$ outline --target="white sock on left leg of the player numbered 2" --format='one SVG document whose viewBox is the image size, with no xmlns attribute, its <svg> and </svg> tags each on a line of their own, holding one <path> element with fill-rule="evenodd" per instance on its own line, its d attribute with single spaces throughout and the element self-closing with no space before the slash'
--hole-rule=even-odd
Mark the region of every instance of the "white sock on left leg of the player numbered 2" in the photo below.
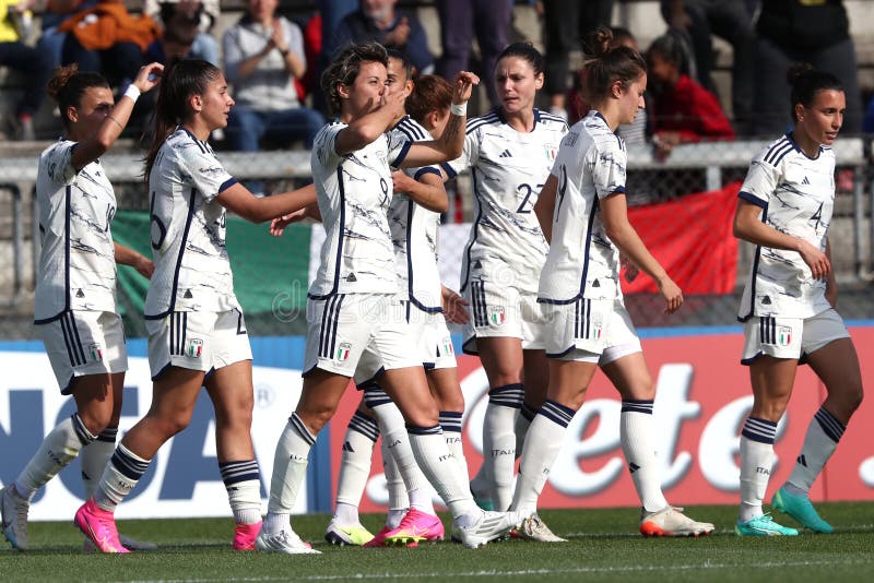
<svg viewBox="0 0 874 583">
<path fill-rule="evenodd" d="M 492 502 L 495 510 L 507 510 L 512 501 L 516 469 L 516 418 L 524 395 L 522 384 L 508 384 L 488 391 L 483 419 L 483 463 L 488 464 Z"/>
</svg>

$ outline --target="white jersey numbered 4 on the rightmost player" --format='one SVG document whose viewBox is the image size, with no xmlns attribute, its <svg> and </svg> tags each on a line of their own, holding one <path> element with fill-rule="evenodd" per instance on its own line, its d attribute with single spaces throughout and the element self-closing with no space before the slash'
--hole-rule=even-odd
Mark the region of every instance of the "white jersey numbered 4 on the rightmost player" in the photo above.
<svg viewBox="0 0 874 583">
<path fill-rule="evenodd" d="M 811 159 L 792 136 L 771 142 L 753 158 L 741 199 L 761 207 L 761 221 L 825 251 L 835 206 L 835 152 L 819 146 Z M 829 309 L 826 282 L 814 279 L 796 251 L 757 247 L 741 309 L 752 316 L 810 318 Z"/>
</svg>

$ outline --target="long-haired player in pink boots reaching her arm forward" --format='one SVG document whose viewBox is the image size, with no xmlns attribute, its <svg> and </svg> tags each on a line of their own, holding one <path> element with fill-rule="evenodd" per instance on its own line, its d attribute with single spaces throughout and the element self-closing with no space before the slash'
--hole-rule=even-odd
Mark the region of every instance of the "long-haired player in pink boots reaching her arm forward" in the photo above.
<svg viewBox="0 0 874 583">
<path fill-rule="evenodd" d="M 152 406 L 121 440 L 94 497 L 75 515 L 103 552 L 126 552 L 114 511 L 161 445 L 186 428 L 204 384 L 237 523 L 233 547 L 255 548 L 261 483 L 250 436 L 252 356 L 225 249 L 225 210 L 257 223 L 294 212 L 312 198 L 258 199 L 227 174 L 206 139 L 227 124 L 233 105 L 222 71 L 209 62 L 181 60 L 165 71 L 145 165 L 155 260 L 145 298 Z"/>
</svg>

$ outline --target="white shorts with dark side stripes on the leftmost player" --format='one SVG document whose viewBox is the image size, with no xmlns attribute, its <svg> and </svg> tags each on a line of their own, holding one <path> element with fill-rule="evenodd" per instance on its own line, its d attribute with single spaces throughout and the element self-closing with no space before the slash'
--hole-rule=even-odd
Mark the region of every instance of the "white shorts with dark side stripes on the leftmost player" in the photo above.
<svg viewBox="0 0 874 583">
<path fill-rule="evenodd" d="M 66 311 L 37 324 L 61 394 L 69 395 L 74 377 L 128 370 L 128 350 L 121 318 L 106 311 Z"/>
</svg>

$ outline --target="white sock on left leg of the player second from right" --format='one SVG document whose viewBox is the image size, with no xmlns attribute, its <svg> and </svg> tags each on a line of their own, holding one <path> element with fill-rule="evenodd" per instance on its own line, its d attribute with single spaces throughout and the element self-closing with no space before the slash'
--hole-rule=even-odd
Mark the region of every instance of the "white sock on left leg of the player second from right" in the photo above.
<svg viewBox="0 0 874 583">
<path fill-rule="evenodd" d="M 558 450 L 562 449 L 562 441 L 574 413 L 570 407 L 546 400 L 531 421 L 522 447 L 522 460 L 519 464 L 519 478 L 516 483 L 511 510 L 523 516 L 530 516 L 538 511 L 538 498 L 546 485 Z"/>
</svg>

